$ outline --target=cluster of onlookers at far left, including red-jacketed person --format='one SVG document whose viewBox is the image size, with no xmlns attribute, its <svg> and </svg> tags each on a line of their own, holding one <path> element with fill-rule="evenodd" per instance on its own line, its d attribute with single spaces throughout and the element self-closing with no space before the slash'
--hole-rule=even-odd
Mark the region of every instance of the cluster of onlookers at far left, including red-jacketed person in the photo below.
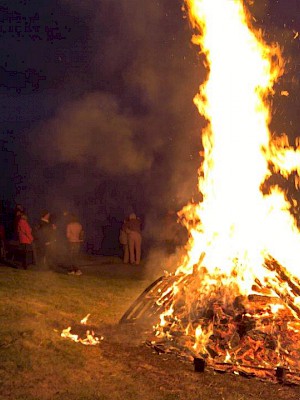
<svg viewBox="0 0 300 400">
<path fill-rule="evenodd" d="M 38 223 L 32 226 L 24 207 L 18 204 L 8 237 L 4 224 L 0 224 L 1 258 L 10 259 L 9 254 L 18 248 L 23 269 L 30 264 L 40 269 L 61 266 L 69 274 L 81 275 L 78 259 L 83 240 L 81 223 L 75 214 L 66 211 L 60 218 L 54 218 L 48 210 L 43 210 Z"/>
</svg>

